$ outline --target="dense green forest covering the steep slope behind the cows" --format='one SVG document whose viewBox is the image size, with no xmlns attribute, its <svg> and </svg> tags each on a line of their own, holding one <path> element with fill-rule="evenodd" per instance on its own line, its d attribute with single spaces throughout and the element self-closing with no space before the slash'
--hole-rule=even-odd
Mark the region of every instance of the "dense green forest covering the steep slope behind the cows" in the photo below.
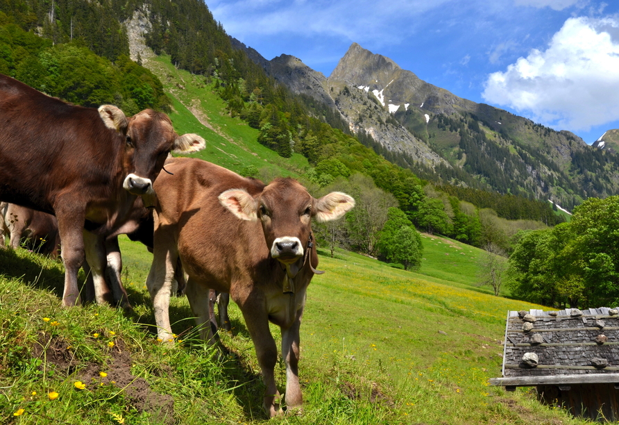
<svg viewBox="0 0 619 425">
<path fill-rule="evenodd" d="M 155 53 L 167 53 L 177 67 L 203 75 L 226 101 L 230 115 L 260 131 L 260 143 L 284 157 L 293 152 L 305 156 L 312 165 L 305 175 L 308 181 L 323 188 L 334 184 L 341 187 L 343 180 L 348 181 L 345 184 L 350 192 L 366 205 L 380 204 L 377 210 L 381 218 L 375 223 L 368 208 L 357 208 L 350 215 L 348 229 L 340 238 L 348 247 L 395 258 L 393 253 L 381 250 L 384 244 L 380 238 L 389 208 L 396 206 L 421 231 L 480 247 L 495 242 L 510 249 L 511 235 L 520 228 L 510 228 L 500 217 L 539 220 L 550 226 L 562 221 L 549 203 L 484 192 L 479 190 L 484 185 L 470 177 L 470 187 L 476 189 L 429 184 L 427 180 L 436 172 L 439 176 L 444 173 L 449 181 L 457 170 L 445 167 L 416 175 L 409 161 L 380 151 L 370 136 L 350 134 L 328 108 L 291 94 L 243 51 L 232 49 L 221 25 L 199 0 L 122 4 L 0 0 L 0 72 L 84 106 L 115 103 L 127 114 L 143 108 L 167 110 L 169 99 L 158 78 L 127 56 L 128 39 L 119 22 L 138 8 L 151 22 L 146 41 Z M 470 130 L 475 128 L 474 119 L 443 122 L 458 126 L 462 143 L 479 137 Z M 484 146 L 491 149 L 488 143 Z M 479 158 L 484 157 L 483 149 Z M 466 178 L 464 173 L 460 177 Z M 504 185 L 509 191 L 509 181 Z M 368 190 L 370 187 L 375 190 Z M 484 212 L 488 208 L 497 213 Z M 366 234 L 368 229 L 373 229 L 373 235 Z M 410 264 L 414 267 L 414 261 Z"/>
</svg>

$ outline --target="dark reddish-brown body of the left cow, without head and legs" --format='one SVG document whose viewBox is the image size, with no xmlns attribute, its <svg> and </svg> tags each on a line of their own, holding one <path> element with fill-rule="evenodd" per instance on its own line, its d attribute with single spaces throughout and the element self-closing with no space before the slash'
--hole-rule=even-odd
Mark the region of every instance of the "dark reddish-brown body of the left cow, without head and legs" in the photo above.
<svg viewBox="0 0 619 425">
<path fill-rule="evenodd" d="M 69 105 L 0 75 L 0 117 L 3 201 L 53 213 L 59 194 L 111 190 L 122 177 L 124 142 L 94 108 Z"/>
</svg>

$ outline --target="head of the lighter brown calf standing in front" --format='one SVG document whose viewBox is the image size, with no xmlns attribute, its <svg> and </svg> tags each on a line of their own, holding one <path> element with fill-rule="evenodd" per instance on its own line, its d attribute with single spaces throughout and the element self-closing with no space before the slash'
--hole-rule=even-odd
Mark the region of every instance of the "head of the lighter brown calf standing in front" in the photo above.
<svg viewBox="0 0 619 425">
<path fill-rule="evenodd" d="M 284 265 L 303 257 L 312 217 L 329 222 L 355 206 L 355 199 L 342 192 L 314 199 L 292 178 L 275 179 L 256 197 L 241 189 L 226 190 L 219 202 L 239 219 L 260 220 L 271 256 Z"/>
</svg>

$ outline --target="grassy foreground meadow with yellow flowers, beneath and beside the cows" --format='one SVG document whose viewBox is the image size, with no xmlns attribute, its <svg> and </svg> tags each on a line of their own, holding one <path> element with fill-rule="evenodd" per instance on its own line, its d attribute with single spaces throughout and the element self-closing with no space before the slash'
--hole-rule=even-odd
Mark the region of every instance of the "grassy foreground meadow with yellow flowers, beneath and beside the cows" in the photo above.
<svg viewBox="0 0 619 425">
<path fill-rule="evenodd" d="M 262 422 L 263 387 L 239 310 L 232 306 L 232 333 L 221 336 L 230 352 L 216 354 L 193 339 L 187 300 L 173 299 L 182 342 L 159 344 L 144 288 L 151 255 L 126 239 L 121 249 L 135 307 L 129 316 L 105 306 L 60 308 L 60 263 L 0 251 L 1 421 Z M 327 273 L 312 281 L 301 326 L 305 413 L 270 423 L 583 423 L 541 406 L 527 390 L 486 385 L 500 376 L 507 310 L 539 306 L 434 283 L 345 251 L 320 261 Z M 428 271 L 442 268 L 428 262 Z M 282 363 L 276 371 L 283 390 Z"/>
</svg>

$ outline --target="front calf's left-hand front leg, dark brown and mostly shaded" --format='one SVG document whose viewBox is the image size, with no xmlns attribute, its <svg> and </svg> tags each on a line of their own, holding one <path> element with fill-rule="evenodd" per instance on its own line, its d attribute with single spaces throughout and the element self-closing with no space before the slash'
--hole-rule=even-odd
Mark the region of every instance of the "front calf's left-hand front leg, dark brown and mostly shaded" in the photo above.
<svg viewBox="0 0 619 425">
<path fill-rule="evenodd" d="M 262 382 L 266 386 L 262 407 L 269 417 L 281 415 L 280 392 L 275 385 L 275 363 L 278 360 L 278 347 L 269 330 L 269 318 L 264 311 L 264 304 L 241 306 L 241 312 L 251 340 L 253 341 L 258 364 L 262 371 Z"/>
</svg>

